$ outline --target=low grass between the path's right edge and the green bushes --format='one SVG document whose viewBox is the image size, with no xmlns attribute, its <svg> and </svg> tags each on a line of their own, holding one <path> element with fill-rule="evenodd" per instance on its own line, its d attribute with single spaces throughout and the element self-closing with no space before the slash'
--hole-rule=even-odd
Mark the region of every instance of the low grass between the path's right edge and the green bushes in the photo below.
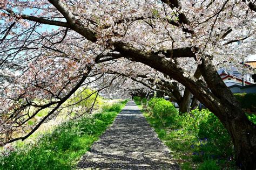
<svg viewBox="0 0 256 170">
<path fill-rule="evenodd" d="M 136 102 L 136 104 L 140 105 L 139 102 Z M 140 105 L 140 108 L 143 107 Z M 228 147 L 226 147 L 227 150 L 224 151 L 223 147 L 215 147 L 215 145 L 212 145 L 212 141 L 209 141 L 208 139 L 199 139 L 197 134 L 193 132 L 198 130 L 199 127 L 197 123 L 199 122 L 194 122 L 196 124 L 193 125 L 193 122 L 191 122 L 192 119 L 184 119 L 185 117 L 180 117 L 180 121 L 183 121 L 183 123 L 181 123 L 183 124 L 182 127 L 180 126 L 179 122 L 173 122 L 170 125 L 164 126 L 160 119 L 152 115 L 152 111 L 150 112 L 142 110 L 142 112 L 147 121 L 158 134 L 158 137 L 165 143 L 167 147 L 170 148 L 173 158 L 179 163 L 182 169 L 234 168 L 234 161 L 230 161 L 224 157 L 218 156 L 218 154 L 221 155 L 225 152 L 227 155 L 230 155 L 230 153 L 228 153 L 230 151 L 228 150 Z M 252 118 L 251 121 L 253 121 Z M 221 139 L 223 140 L 225 138 Z M 224 140 L 223 142 L 224 143 L 221 146 L 224 146 L 225 143 L 228 146 L 228 140 Z M 219 151 L 220 149 L 221 151 Z"/>
</svg>

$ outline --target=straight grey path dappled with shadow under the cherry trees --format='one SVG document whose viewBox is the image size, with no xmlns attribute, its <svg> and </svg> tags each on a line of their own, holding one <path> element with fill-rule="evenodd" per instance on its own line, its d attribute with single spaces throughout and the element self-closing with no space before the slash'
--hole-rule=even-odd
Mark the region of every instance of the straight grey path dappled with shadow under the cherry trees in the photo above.
<svg viewBox="0 0 256 170">
<path fill-rule="evenodd" d="M 78 168 L 179 169 L 133 101 L 80 159 Z"/>
</svg>

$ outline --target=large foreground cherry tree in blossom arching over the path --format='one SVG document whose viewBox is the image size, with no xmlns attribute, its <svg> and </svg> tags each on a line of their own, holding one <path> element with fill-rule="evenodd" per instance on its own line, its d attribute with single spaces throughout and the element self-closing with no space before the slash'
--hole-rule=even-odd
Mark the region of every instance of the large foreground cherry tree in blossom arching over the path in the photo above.
<svg viewBox="0 0 256 170">
<path fill-rule="evenodd" d="M 57 107 L 52 114 L 92 69 L 126 58 L 183 84 L 223 123 L 237 165 L 256 168 L 255 125 L 216 71 L 225 62 L 235 65 L 255 53 L 253 2 L 2 1 L 0 8 L 1 58 L 18 62 L 25 73 L 9 88 L 13 92 L 7 91 L 9 100 L 1 99 L 2 120 L 10 121 L 12 115 L 5 113 L 16 112 L 20 105 L 29 107 L 26 98 L 50 100 Z M 21 95 L 25 100 L 10 101 Z"/>
</svg>

